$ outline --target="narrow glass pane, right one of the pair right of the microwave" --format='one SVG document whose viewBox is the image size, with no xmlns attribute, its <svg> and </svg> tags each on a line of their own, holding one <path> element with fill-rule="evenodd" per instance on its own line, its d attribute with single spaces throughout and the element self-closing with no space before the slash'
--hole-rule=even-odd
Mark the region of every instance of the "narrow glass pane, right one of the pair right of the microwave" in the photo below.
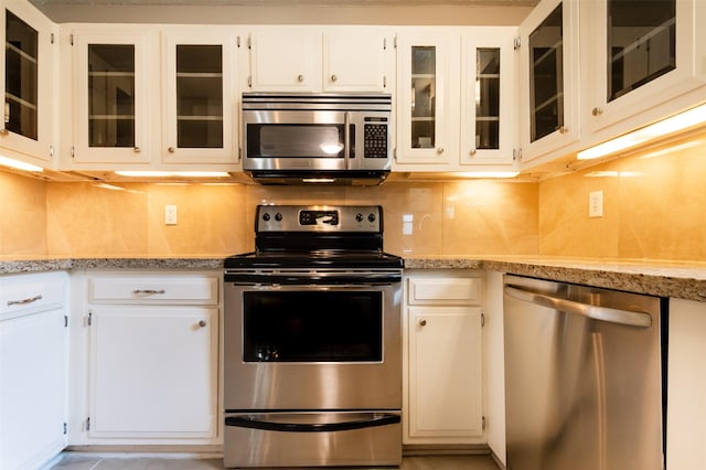
<svg viewBox="0 0 706 470">
<path fill-rule="evenodd" d="M 475 149 L 500 148 L 500 49 L 475 52 Z"/>
</svg>

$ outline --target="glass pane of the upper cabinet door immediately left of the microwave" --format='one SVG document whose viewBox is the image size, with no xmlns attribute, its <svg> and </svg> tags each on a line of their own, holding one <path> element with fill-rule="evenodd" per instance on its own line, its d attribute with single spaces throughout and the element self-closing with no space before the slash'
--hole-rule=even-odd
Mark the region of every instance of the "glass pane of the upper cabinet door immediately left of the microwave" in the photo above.
<svg viewBox="0 0 706 470">
<path fill-rule="evenodd" d="M 221 45 L 176 46 L 176 145 L 223 147 Z"/>
</svg>

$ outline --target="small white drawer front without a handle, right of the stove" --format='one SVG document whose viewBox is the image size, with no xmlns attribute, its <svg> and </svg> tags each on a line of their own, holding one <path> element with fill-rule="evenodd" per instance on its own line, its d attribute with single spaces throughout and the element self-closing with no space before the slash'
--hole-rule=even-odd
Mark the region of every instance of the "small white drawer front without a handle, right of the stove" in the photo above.
<svg viewBox="0 0 706 470">
<path fill-rule="evenodd" d="M 478 278 L 409 278 L 409 305 L 477 305 L 481 301 Z"/>
</svg>

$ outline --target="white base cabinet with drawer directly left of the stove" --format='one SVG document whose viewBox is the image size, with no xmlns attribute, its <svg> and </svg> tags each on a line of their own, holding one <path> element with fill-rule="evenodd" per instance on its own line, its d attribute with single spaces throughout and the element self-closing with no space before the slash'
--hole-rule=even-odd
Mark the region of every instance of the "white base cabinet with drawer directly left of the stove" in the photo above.
<svg viewBox="0 0 706 470">
<path fill-rule="evenodd" d="M 84 444 L 217 444 L 220 277 L 88 273 Z"/>
</svg>

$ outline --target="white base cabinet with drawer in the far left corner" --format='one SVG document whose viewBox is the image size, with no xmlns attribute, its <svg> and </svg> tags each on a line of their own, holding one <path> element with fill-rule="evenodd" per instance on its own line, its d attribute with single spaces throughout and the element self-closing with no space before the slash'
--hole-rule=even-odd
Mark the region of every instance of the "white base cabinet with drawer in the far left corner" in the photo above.
<svg viewBox="0 0 706 470">
<path fill-rule="evenodd" d="M 65 273 L 0 277 L 0 468 L 40 468 L 66 446 Z"/>
</svg>

